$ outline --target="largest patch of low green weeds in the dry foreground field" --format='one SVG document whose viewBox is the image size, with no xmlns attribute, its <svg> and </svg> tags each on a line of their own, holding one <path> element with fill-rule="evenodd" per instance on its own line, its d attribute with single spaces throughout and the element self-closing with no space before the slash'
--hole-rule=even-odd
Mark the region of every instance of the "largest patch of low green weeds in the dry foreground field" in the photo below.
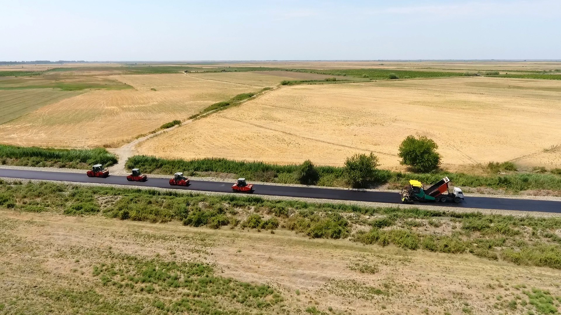
<svg viewBox="0 0 561 315">
<path fill-rule="evenodd" d="M 179 299 L 154 302 L 157 308 L 173 312 L 208 314 L 212 310 L 213 314 L 222 314 L 240 308 L 264 311 L 283 300 L 268 285 L 217 276 L 213 267 L 195 261 L 141 260 L 123 256 L 119 262 L 95 265 L 93 275 L 99 277 L 103 286 L 126 290 L 128 294 L 170 292 L 174 295 L 181 291 Z M 217 297 L 228 303 L 219 303 Z"/>
</svg>

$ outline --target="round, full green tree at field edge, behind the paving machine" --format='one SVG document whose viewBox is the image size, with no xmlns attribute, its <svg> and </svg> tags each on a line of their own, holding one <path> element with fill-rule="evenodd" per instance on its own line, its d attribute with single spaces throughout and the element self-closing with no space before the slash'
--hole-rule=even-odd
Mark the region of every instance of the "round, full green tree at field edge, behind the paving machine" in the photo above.
<svg viewBox="0 0 561 315">
<path fill-rule="evenodd" d="M 402 165 L 411 166 L 415 172 L 430 172 L 440 165 L 438 145 L 433 140 L 420 136 L 407 136 L 399 146 L 399 158 Z"/>
</svg>

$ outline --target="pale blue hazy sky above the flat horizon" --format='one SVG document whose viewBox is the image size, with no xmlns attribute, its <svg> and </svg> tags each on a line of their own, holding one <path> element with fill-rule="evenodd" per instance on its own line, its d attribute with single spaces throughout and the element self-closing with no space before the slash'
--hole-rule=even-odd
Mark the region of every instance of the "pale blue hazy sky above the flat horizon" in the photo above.
<svg viewBox="0 0 561 315">
<path fill-rule="evenodd" d="M 561 59 L 561 0 L 0 0 L 0 61 Z"/>
</svg>

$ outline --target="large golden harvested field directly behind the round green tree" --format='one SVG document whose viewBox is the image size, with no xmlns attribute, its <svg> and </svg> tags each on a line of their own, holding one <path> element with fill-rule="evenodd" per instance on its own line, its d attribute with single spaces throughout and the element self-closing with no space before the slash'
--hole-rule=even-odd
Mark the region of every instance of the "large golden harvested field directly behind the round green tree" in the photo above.
<svg viewBox="0 0 561 315">
<path fill-rule="evenodd" d="M 137 149 L 324 165 L 372 151 L 381 166 L 398 169 L 399 143 L 424 135 L 438 143 L 447 168 L 507 160 L 559 166 L 559 150 L 544 149 L 561 145 L 560 89 L 561 82 L 485 77 L 282 87 Z"/>
</svg>

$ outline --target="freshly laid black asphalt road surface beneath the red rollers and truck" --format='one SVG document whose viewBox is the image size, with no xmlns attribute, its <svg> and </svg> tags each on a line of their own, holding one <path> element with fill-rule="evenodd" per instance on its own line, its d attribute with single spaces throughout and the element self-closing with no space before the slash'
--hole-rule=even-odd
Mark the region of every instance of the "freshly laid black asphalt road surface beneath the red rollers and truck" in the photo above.
<svg viewBox="0 0 561 315">
<path fill-rule="evenodd" d="M 128 182 L 125 176 L 110 175 L 107 178 L 90 178 L 86 174 L 66 172 L 45 172 L 39 170 L 0 169 L 0 177 L 58 180 L 76 183 L 100 183 L 116 185 L 132 185 L 144 187 L 160 187 L 185 189 L 193 191 L 209 192 L 232 192 L 232 183 L 208 182 L 202 180 L 191 180 L 188 187 L 170 186 L 169 180 L 165 178 L 149 178 L 146 182 Z M 399 193 L 395 192 L 373 192 L 350 189 L 331 189 L 314 187 L 292 187 L 276 185 L 254 185 L 256 194 L 268 196 L 287 196 L 305 198 L 324 198 L 333 200 L 371 201 L 401 203 Z M 431 203 L 443 207 L 466 207 L 478 209 L 498 210 L 521 210 L 561 213 L 560 201 L 527 200 L 494 197 L 466 197 L 462 203 Z"/>
</svg>

